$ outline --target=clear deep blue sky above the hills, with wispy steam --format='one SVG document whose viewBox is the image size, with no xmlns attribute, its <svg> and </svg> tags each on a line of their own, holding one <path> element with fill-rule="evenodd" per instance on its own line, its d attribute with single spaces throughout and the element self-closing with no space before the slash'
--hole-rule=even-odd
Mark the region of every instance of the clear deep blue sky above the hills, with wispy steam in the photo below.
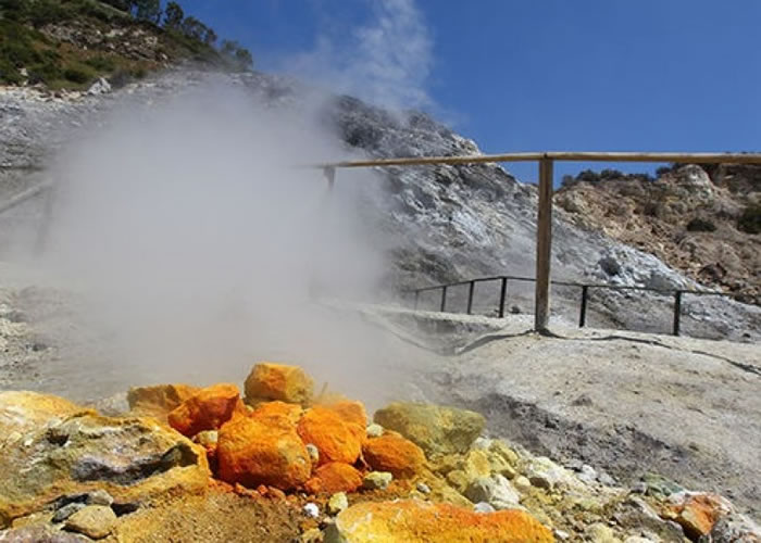
<svg viewBox="0 0 761 543">
<path fill-rule="evenodd" d="M 432 112 L 485 152 L 761 148 L 759 0 L 180 3 L 247 46 L 259 70 L 353 79 L 341 90 L 370 99 L 400 89 L 394 104 Z M 367 58 L 372 40 L 380 59 Z M 534 166 L 507 167 L 536 178 Z"/>
</svg>

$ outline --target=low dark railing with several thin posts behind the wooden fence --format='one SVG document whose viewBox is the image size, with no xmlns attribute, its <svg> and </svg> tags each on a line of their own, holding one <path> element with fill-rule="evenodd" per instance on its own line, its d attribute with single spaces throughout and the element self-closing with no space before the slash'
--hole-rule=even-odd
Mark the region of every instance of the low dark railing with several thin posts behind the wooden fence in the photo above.
<svg viewBox="0 0 761 543">
<path fill-rule="evenodd" d="M 520 276 L 489 276 L 479 277 L 477 279 L 470 279 L 465 281 L 453 281 L 444 285 L 436 285 L 433 287 L 422 287 L 419 289 L 407 290 L 407 293 L 414 294 L 413 307 L 416 311 L 420 306 L 420 298 L 423 292 L 433 292 L 440 290 L 441 298 L 439 302 L 439 311 L 441 313 L 447 312 L 447 294 L 452 287 L 467 286 L 467 304 L 465 306 L 465 313 L 467 315 L 473 314 L 473 298 L 475 294 L 475 286 L 478 282 L 490 282 L 500 281 L 499 290 L 499 303 L 497 305 L 498 318 L 504 318 L 506 304 L 508 300 L 508 282 L 509 281 L 523 281 L 523 282 L 535 282 L 536 279 L 533 277 L 520 277 Z M 607 285 L 607 283 L 583 283 L 583 282 L 571 282 L 571 281 L 550 281 L 550 285 L 558 287 L 574 287 L 581 289 L 581 302 L 578 310 L 578 327 L 584 328 L 587 324 L 587 310 L 589 302 L 589 291 L 591 289 L 607 289 L 613 291 L 640 291 L 640 292 L 656 292 L 663 295 L 670 295 L 674 299 L 673 304 L 673 321 L 672 321 L 672 334 L 679 336 L 682 328 L 682 301 L 685 294 L 697 295 L 697 296 L 723 296 L 732 299 L 756 299 L 757 296 L 747 293 L 737 292 L 715 292 L 715 291 L 703 291 L 703 290 L 690 290 L 690 289 L 654 289 L 650 287 L 628 287 L 623 285 Z M 450 312 L 451 313 L 451 312 Z M 457 312 L 454 312 L 457 313 Z"/>
</svg>

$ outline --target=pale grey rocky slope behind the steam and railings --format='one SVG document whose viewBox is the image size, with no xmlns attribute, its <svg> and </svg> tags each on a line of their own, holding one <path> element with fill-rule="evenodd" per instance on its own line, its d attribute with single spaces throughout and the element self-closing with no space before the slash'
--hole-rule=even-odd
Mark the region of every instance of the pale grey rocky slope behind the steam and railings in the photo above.
<svg viewBox="0 0 761 543">
<path fill-rule="evenodd" d="M 298 111 L 314 99 L 312 90 L 266 74 L 189 70 L 172 71 L 103 97 L 55 97 L 35 89 L 5 89 L 0 96 L 0 123 L 7 135 L 0 144 L 0 164 L 11 168 L 3 169 L 3 195 L 10 198 L 39 180 L 38 175 L 29 176 L 14 167 L 43 166 L 45 157 L 57 147 L 77 130 L 96 127 L 104 112 L 124 103 L 155 108 L 203 85 L 235 86 L 275 110 Z M 324 123 L 345 142 L 347 154 L 383 157 L 478 152 L 473 141 L 424 114 L 391 114 L 348 97 L 322 97 L 321 101 Z M 341 179 L 351 179 L 352 175 L 357 174 L 340 171 L 339 186 Z M 387 285 L 394 290 L 494 274 L 533 275 L 537 202 L 533 186 L 519 182 L 497 165 L 387 168 L 375 175 L 384 195 L 367 201 L 363 213 L 391 240 L 392 266 Z M 35 220 L 35 213 L 39 210 L 15 210 L 0 216 L 0 220 Z M 699 288 L 656 256 L 602 232 L 581 228 L 563 213 L 554 217 L 553 229 L 556 279 L 664 290 Z M 12 228 L 3 228 L 3 235 L 11 233 Z M 611 274 L 612 267 L 615 274 Z M 554 289 L 556 314 L 576 320 L 578 290 Z M 452 294 L 462 300 L 464 292 Z M 510 294 L 509 303 L 517 312 L 531 312 L 529 286 L 511 286 Z M 479 287 L 476 307 L 492 311 L 497 295 L 497 285 Z M 596 290 L 588 321 L 669 332 L 672 311 L 669 295 Z M 760 323 L 761 311 L 731 301 L 696 298 L 683 304 L 685 333 L 747 340 L 759 336 Z"/>
</svg>

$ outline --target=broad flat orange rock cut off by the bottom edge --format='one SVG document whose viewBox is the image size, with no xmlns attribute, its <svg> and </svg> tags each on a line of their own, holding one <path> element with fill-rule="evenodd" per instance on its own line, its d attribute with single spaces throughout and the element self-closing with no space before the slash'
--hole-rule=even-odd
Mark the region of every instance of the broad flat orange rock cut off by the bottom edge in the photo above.
<svg viewBox="0 0 761 543">
<path fill-rule="evenodd" d="M 550 543 L 552 532 L 522 510 L 475 513 L 416 500 L 362 502 L 341 512 L 326 540 L 352 543 Z M 330 539 L 333 538 L 333 539 Z"/>
</svg>

